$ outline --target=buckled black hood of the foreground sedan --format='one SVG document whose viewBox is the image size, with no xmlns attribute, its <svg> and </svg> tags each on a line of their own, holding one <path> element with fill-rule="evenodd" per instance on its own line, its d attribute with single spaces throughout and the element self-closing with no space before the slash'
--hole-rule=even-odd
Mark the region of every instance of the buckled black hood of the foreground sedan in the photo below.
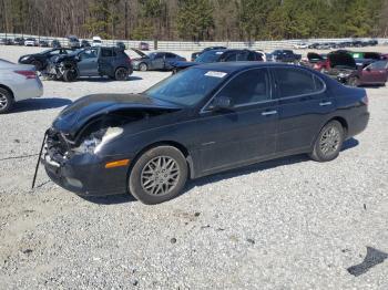
<svg viewBox="0 0 388 290">
<path fill-rule="evenodd" d="M 141 94 L 94 94 L 79 99 L 65 107 L 54 120 L 52 126 L 65 135 L 74 137 L 91 120 L 121 110 L 166 110 L 182 107 L 147 97 Z"/>
</svg>

